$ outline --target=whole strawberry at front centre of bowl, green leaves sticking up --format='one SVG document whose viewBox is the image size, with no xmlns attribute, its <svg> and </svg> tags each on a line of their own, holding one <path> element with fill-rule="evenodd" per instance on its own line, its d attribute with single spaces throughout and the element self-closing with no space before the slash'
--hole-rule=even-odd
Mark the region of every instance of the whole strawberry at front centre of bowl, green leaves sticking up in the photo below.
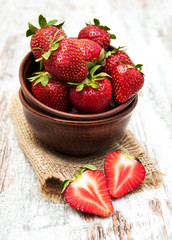
<svg viewBox="0 0 172 240">
<path fill-rule="evenodd" d="M 112 99 L 112 85 L 106 73 L 94 75 L 100 67 L 96 65 L 90 76 L 69 90 L 71 103 L 82 113 L 100 113 L 108 110 Z"/>
</svg>

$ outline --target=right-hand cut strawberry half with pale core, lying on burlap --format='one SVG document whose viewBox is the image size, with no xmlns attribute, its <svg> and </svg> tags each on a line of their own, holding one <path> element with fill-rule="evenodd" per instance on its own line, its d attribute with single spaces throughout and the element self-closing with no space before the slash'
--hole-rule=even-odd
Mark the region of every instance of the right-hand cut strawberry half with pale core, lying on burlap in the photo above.
<svg viewBox="0 0 172 240">
<path fill-rule="evenodd" d="M 145 178 L 144 166 L 127 153 L 110 152 L 104 167 L 110 195 L 115 198 L 135 189 Z"/>
</svg>

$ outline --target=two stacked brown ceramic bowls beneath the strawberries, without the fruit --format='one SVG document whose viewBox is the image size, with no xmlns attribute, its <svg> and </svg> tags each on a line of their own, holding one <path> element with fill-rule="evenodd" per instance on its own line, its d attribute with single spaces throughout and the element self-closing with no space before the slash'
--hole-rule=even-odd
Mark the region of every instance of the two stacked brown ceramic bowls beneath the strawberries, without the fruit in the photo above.
<svg viewBox="0 0 172 240">
<path fill-rule="evenodd" d="M 71 155 L 91 154 L 113 146 L 131 118 L 138 95 L 103 113 L 62 112 L 46 106 L 32 95 L 28 78 L 38 67 L 34 56 L 29 52 L 19 69 L 19 97 L 26 120 L 35 136 L 58 152 Z"/>
</svg>

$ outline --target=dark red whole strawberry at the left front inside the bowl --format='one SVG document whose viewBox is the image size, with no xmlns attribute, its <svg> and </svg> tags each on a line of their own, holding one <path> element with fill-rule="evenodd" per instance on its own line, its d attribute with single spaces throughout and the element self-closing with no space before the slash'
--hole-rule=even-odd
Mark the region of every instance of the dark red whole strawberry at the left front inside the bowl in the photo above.
<svg viewBox="0 0 172 240">
<path fill-rule="evenodd" d="M 45 105 L 60 111 L 68 110 L 68 89 L 66 85 L 52 78 L 48 72 L 37 72 L 30 77 L 33 96 Z"/>
</svg>

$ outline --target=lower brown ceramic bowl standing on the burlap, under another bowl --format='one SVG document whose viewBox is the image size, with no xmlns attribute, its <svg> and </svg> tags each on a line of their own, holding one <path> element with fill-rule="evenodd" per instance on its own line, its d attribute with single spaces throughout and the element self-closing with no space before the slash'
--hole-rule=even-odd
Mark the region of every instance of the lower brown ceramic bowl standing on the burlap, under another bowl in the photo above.
<svg viewBox="0 0 172 240">
<path fill-rule="evenodd" d="M 70 120 L 53 117 L 34 109 L 19 90 L 24 115 L 35 135 L 57 151 L 86 155 L 113 145 L 126 128 L 138 96 L 120 113 L 97 120 Z"/>
</svg>

